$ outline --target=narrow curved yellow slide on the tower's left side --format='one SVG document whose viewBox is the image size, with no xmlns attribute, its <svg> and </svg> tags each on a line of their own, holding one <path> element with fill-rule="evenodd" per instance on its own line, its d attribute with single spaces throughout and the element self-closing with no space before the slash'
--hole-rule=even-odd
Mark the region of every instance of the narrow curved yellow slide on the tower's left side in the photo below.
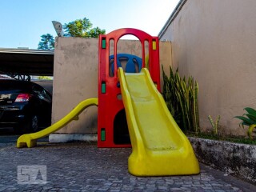
<svg viewBox="0 0 256 192">
<path fill-rule="evenodd" d="M 44 130 L 40 130 L 33 134 L 23 134 L 18 138 L 17 147 L 34 147 L 37 146 L 37 139 L 46 137 L 47 135 L 61 129 L 63 126 L 66 126 L 69 122 L 73 120 L 78 120 L 78 115 L 82 113 L 88 106 L 98 106 L 98 98 L 89 98 L 78 104 L 67 114 L 64 118 L 55 122 L 52 126 L 47 127 Z"/>
</svg>

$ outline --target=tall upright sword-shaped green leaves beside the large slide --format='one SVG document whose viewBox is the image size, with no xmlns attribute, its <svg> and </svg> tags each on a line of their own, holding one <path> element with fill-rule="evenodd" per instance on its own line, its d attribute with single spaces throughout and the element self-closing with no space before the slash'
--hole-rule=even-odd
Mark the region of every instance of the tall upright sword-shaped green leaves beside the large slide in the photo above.
<svg viewBox="0 0 256 192">
<path fill-rule="evenodd" d="M 162 67 L 163 98 L 178 126 L 184 131 L 200 132 L 198 112 L 198 82 L 193 77 L 181 78 L 178 69 L 170 67 L 170 77 Z"/>
</svg>

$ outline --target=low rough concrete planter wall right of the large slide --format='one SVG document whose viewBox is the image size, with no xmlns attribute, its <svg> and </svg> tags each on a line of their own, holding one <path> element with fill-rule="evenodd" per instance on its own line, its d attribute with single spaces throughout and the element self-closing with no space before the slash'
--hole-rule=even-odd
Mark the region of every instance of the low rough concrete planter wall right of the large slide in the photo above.
<svg viewBox="0 0 256 192">
<path fill-rule="evenodd" d="M 256 146 L 189 138 L 200 162 L 256 184 Z"/>
</svg>

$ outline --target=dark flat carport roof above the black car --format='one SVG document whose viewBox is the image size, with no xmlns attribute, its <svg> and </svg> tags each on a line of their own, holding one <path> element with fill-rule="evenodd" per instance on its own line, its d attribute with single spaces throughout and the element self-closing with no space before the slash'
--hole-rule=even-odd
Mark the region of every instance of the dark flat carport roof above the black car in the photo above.
<svg viewBox="0 0 256 192">
<path fill-rule="evenodd" d="M 0 74 L 53 76 L 54 50 L 0 48 Z"/>
</svg>

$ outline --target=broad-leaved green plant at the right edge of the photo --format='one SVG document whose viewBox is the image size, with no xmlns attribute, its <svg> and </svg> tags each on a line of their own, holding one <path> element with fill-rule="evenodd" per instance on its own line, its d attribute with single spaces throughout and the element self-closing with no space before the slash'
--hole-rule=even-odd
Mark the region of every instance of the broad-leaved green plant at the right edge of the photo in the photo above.
<svg viewBox="0 0 256 192">
<path fill-rule="evenodd" d="M 238 118 L 242 120 L 242 122 L 239 123 L 239 126 L 249 126 L 247 134 L 250 139 L 253 139 L 252 133 L 254 128 L 256 127 L 256 110 L 250 107 L 246 107 L 244 110 L 246 110 L 247 114 L 243 114 L 242 116 L 235 116 L 234 118 Z"/>
</svg>

